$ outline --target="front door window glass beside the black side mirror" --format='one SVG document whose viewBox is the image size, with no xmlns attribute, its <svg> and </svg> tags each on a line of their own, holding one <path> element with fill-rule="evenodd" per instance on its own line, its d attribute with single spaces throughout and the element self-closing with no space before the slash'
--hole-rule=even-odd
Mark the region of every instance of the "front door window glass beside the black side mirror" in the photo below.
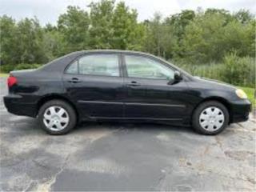
<svg viewBox="0 0 256 192">
<path fill-rule="evenodd" d="M 126 69 L 130 78 L 174 79 L 174 70 L 150 58 L 126 55 Z"/>
</svg>

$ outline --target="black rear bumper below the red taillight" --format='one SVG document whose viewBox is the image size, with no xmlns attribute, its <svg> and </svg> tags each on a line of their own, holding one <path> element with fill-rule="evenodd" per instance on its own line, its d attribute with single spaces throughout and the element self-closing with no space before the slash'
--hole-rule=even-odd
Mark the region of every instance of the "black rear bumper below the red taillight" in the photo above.
<svg viewBox="0 0 256 192">
<path fill-rule="evenodd" d="M 35 103 L 24 102 L 21 95 L 9 94 L 3 97 L 6 109 L 11 114 L 29 116 L 35 118 L 37 116 L 37 105 Z"/>
</svg>

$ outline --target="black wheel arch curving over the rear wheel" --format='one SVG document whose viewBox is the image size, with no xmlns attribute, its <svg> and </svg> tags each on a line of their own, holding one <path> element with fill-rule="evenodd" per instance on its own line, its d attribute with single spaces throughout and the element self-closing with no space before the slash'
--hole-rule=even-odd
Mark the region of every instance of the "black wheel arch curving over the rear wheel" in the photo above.
<svg viewBox="0 0 256 192">
<path fill-rule="evenodd" d="M 77 115 L 77 119 L 79 119 L 78 109 L 74 105 L 74 103 L 71 102 L 70 99 L 66 98 L 65 96 L 59 95 L 59 94 L 49 94 L 49 95 L 46 95 L 43 98 L 41 98 L 37 103 L 37 115 L 38 115 L 38 111 L 40 110 L 40 108 L 42 107 L 43 104 L 45 104 L 46 102 L 49 102 L 51 100 L 54 100 L 54 99 L 62 100 L 64 102 L 67 102 L 68 104 L 70 104 L 70 106 L 73 107 L 75 114 Z"/>
</svg>

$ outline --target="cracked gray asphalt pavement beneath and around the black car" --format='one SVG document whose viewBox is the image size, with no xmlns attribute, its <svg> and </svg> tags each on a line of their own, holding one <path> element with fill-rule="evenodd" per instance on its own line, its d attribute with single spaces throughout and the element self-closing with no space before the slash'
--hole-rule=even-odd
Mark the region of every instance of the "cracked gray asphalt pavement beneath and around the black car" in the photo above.
<svg viewBox="0 0 256 192">
<path fill-rule="evenodd" d="M 0 190 L 255 191 L 254 118 L 217 136 L 155 124 L 84 123 L 50 136 L 0 98 Z"/>
</svg>

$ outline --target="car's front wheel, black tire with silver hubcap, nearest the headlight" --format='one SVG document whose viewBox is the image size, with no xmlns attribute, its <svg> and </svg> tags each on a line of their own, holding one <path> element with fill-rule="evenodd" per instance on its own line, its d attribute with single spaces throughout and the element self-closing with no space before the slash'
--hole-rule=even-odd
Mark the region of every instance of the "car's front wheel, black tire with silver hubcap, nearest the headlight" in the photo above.
<svg viewBox="0 0 256 192">
<path fill-rule="evenodd" d="M 194 130 L 199 134 L 215 135 L 226 128 L 230 114 L 220 102 L 210 101 L 200 104 L 192 117 Z"/>
</svg>

